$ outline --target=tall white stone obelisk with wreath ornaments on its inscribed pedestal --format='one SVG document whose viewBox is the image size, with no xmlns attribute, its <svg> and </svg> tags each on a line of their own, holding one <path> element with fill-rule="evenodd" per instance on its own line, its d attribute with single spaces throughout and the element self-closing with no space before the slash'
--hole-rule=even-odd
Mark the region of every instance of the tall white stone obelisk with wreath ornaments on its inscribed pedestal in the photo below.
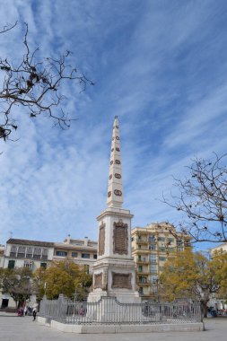
<svg viewBox="0 0 227 341">
<path fill-rule="evenodd" d="M 93 267 L 92 292 L 88 302 L 101 296 L 119 302 L 140 302 L 135 287 L 135 263 L 131 253 L 131 219 L 123 204 L 122 165 L 118 117 L 115 117 L 109 162 L 108 207 L 97 217 L 99 222 L 98 258 Z"/>
</svg>

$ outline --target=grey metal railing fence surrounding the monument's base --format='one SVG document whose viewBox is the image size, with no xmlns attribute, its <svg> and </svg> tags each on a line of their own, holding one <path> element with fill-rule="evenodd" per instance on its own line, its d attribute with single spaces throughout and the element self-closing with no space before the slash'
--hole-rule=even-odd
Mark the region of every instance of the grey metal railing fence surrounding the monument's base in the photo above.
<svg viewBox="0 0 227 341">
<path fill-rule="evenodd" d="M 193 323 L 202 320 L 199 302 L 121 303 L 103 296 L 98 302 L 73 302 L 60 295 L 40 302 L 39 316 L 68 324 L 160 324 Z"/>
</svg>

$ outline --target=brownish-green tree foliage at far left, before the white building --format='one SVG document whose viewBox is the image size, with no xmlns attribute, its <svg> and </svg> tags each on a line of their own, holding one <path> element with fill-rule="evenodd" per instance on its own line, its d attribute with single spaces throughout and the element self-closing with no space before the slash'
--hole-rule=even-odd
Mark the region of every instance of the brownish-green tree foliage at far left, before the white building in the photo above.
<svg viewBox="0 0 227 341">
<path fill-rule="evenodd" d="M 2 293 L 9 293 L 16 306 L 26 302 L 32 294 L 31 270 L 26 267 L 1 269 L 0 288 Z"/>
</svg>

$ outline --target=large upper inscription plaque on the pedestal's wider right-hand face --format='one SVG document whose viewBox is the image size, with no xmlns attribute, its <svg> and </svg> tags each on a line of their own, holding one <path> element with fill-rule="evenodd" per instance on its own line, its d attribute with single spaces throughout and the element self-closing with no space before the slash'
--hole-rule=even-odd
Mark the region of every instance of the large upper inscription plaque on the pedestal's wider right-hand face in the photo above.
<svg viewBox="0 0 227 341">
<path fill-rule="evenodd" d="M 127 255 L 127 223 L 114 223 L 113 251 L 119 255 Z"/>
</svg>

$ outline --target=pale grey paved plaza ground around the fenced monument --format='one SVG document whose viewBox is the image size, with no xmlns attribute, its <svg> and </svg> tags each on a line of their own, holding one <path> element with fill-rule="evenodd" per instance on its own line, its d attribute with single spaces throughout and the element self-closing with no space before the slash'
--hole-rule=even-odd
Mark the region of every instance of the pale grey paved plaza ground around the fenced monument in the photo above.
<svg viewBox="0 0 227 341">
<path fill-rule="evenodd" d="M 2 341 L 226 341 L 227 319 L 205 319 L 202 332 L 164 332 L 145 334 L 93 334 L 63 333 L 32 321 L 31 316 L 20 318 L 0 313 L 0 340 Z"/>
</svg>

